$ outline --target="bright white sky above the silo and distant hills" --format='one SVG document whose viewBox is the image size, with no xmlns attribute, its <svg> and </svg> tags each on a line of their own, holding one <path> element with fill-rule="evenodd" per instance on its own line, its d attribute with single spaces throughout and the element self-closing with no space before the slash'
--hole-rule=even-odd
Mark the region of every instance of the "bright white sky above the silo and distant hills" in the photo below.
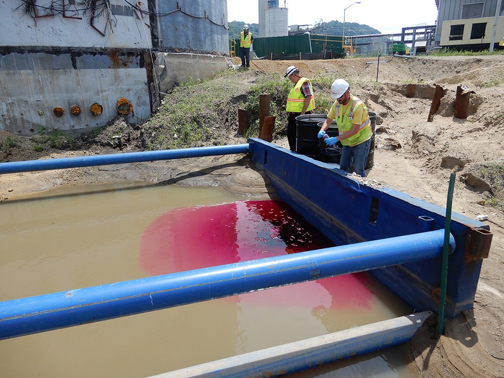
<svg viewBox="0 0 504 378">
<path fill-rule="evenodd" d="M 228 21 L 259 22 L 259 1 L 227 0 Z M 434 25 L 437 8 L 434 0 L 361 0 L 353 4 L 351 0 L 287 0 L 289 25 L 314 25 L 337 20 L 366 24 L 382 33 L 400 33 L 402 27 Z M 279 0 L 280 7 L 284 1 Z M 350 6 L 350 8 L 348 8 Z M 244 11 L 246 9 L 246 12 Z"/>
</svg>

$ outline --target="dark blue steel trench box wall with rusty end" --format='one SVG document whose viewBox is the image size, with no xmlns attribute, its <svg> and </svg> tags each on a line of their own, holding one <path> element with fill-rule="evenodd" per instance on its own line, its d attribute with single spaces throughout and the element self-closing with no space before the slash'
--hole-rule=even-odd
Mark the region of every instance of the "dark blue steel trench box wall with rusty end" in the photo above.
<svg viewBox="0 0 504 378">
<path fill-rule="evenodd" d="M 279 197 L 336 245 L 445 228 L 446 209 L 260 139 L 249 139 L 255 166 Z M 482 259 L 488 257 L 488 225 L 452 213 L 455 250 L 448 261 L 446 315 L 472 308 Z M 375 269 L 372 274 L 415 311 L 439 308 L 442 257 Z"/>
</svg>

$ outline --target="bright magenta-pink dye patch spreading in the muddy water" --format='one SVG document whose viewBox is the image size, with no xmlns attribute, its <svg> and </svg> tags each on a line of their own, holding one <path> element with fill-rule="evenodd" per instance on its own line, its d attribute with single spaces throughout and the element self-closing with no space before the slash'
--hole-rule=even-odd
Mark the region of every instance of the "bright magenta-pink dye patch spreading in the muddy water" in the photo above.
<svg viewBox="0 0 504 378">
<path fill-rule="evenodd" d="M 283 202 L 239 201 L 174 209 L 144 231 L 140 263 L 151 275 L 281 256 L 334 244 Z M 365 274 L 350 274 L 263 290 L 248 300 L 326 308 L 370 308 Z M 309 302 L 309 303 L 307 303 Z M 286 304 L 284 303 L 284 304 Z"/>
</svg>

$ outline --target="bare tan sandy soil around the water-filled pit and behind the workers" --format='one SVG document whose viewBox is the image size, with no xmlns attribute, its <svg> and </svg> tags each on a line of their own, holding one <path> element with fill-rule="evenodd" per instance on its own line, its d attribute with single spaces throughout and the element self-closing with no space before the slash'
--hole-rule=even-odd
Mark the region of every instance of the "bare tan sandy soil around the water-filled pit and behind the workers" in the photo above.
<svg viewBox="0 0 504 378">
<path fill-rule="evenodd" d="M 410 345 L 412 368 L 425 377 L 504 377 L 504 56 L 389 59 L 382 58 L 380 65 L 373 58 L 255 60 L 250 71 L 283 73 L 294 64 L 306 77 L 327 75 L 349 80 L 352 93 L 377 113 L 374 166 L 368 172 L 369 178 L 445 207 L 449 177 L 456 173 L 453 211 L 471 218 L 487 216 L 485 222 L 493 233 L 490 256 L 483 262 L 473 310 L 448 321 L 446 334 L 439 339 L 430 338 L 427 331 L 417 335 Z M 407 84 L 416 85 L 413 97 L 407 96 Z M 432 122 L 427 122 L 436 84 L 446 94 Z M 474 92 L 466 119 L 453 116 L 458 85 Z M 237 128 L 236 120 L 231 123 Z M 7 137 L 7 133 L 0 132 L 0 142 Z M 22 139 L 17 138 L 16 142 L 18 147 L 10 151 L 10 161 L 34 158 L 33 149 L 19 147 L 25 143 Z M 273 142 L 287 145 L 285 139 Z M 117 151 L 93 147 L 73 152 L 51 151 L 36 157 L 103 152 Z M 5 159 L 1 152 L 0 158 Z M 271 195 L 267 179 L 248 165 L 245 156 L 220 156 L 176 163 L 4 174 L 0 175 L 0 201 L 58 185 L 117 180 L 222 185 L 244 196 Z"/>
</svg>

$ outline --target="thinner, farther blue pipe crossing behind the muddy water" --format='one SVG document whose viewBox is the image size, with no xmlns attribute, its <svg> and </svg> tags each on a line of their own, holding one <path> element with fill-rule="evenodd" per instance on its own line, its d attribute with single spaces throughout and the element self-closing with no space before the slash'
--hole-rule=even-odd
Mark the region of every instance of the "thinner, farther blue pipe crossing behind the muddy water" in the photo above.
<svg viewBox="0 0 504 378">
<path fill-rule="evenodd" d="M 80 156 L 73 158 L 13 161 L 8 163 L 0 163 L 0 174 L 43 171 L 49 169 L 91 167 L 95 165 L 138 163 L 141 161 L 241 154 L 248 152 L 248 146 L 249 145 L 246 143 L 229 146 L 180 148 L 177 150 L 128 152 L 124 154 Z"/>
</svg>

